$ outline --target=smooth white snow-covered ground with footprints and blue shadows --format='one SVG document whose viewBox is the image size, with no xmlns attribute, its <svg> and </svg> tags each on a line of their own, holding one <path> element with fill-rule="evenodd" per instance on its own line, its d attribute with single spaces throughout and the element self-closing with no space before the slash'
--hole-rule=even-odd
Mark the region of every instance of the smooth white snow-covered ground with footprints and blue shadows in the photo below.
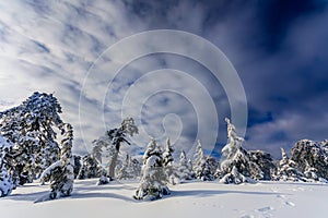
<svg viewBox="0 0 328 218">
<path fill-rule="evenodd" d="M 72 196 L 36 204 L 48 185 L 17 187 L 0 198 L 0 217 L 328 217 L 327 184 L 191 182 L 169 186 L 172 194 L 162 199 L 138 202 L 132 198 L 138 183 L 98 186 L 96 181 L 75 181 Z"/>
</svg>

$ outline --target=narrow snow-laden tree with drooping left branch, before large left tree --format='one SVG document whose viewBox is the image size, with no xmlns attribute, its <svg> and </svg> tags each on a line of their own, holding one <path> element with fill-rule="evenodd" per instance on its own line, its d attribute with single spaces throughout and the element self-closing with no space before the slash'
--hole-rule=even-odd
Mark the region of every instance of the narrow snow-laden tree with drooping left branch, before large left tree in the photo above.
<svg viewBox="0 0 328 218">
<path fill-rule="evenodd" d="M 73 128 L 69 123 L 61 126 L 63 138 L 60 143 L 60 159 L 50 165 L 40 179 L 50 181 L 51 192 L 49 198 L 69 196 L 73 191 L 74 182 L 74 159 L 72 156 Z"/>
</svg>

